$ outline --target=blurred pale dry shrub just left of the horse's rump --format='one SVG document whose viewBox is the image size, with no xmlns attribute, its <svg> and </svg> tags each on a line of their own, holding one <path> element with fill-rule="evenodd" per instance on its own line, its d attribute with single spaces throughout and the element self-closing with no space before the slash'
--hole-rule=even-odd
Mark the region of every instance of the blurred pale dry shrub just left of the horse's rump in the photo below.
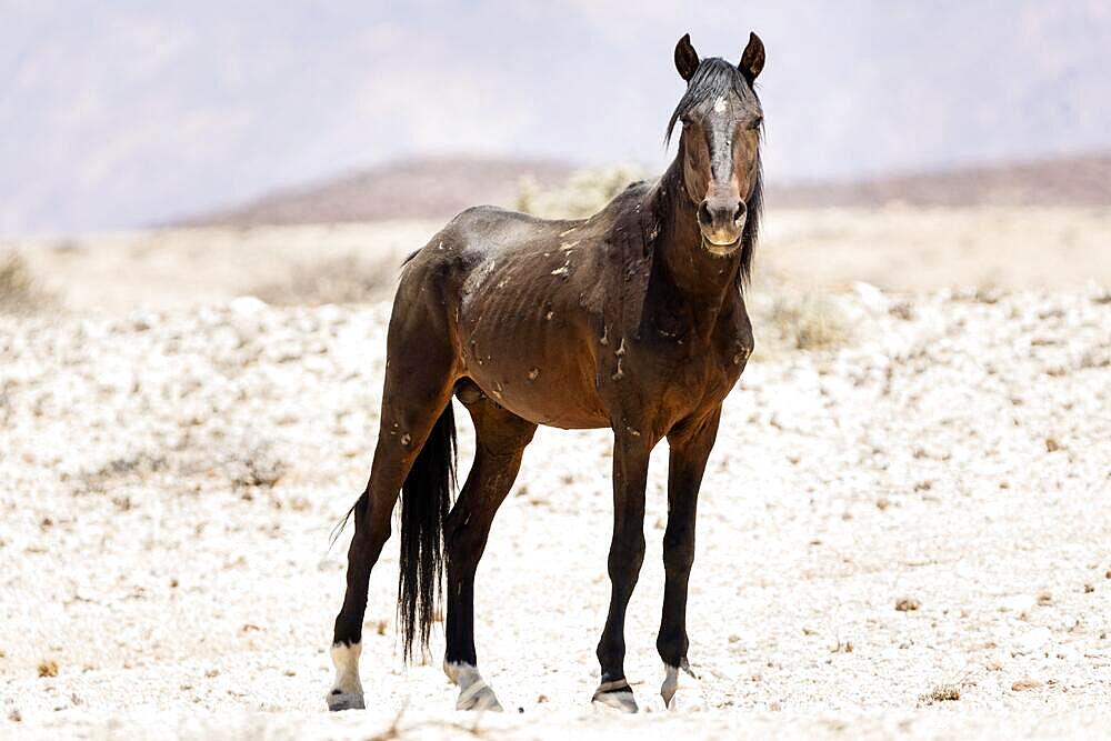
<svg viewBox="0 0 1111 741">
<path fill-rule="evenodd" d="M 364 303 L 387 296 L 399 269 L 392 261 L 370 263 L 348 254 L 297 267 L 286 280 L 258 286 L 251 293 L 277 307 Z"/>
</svg>

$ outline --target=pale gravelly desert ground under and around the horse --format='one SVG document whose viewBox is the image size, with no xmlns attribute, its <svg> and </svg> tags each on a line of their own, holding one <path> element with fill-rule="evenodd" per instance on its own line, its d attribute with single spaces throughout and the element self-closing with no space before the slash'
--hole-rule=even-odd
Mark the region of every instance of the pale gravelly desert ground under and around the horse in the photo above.
<svg viewBox="0 0 1111 741">
<path fill-rule="evenodd" d="M 811 352 L 772 337 L 769 307 L 795 289 L 754 296 L 758 360 L 727 402 L 700 503 L 690 654 L 702 681 L 683 712 L 661 707 L 654 649 L 665 448 L 627 633 L 645 712 L 614 718 L 589 707 L 609 594 L 610 437 L 541 430 L 477 597 L 480 663 L 522 712 L 473 719 L 451 711 L 441 635 L 427 664 L 399 658 L 397 539 L 371 580 L 371 709 L 323 712 L 350 532 L 330 552 L 328 535 L 369 470 L 388 304 L 232 300 L 228 287 L 244 279 L 217 266 L 227 284 L 214 279 L 208 303 L 188 308 L 199 280 L 188 276 L 206 266 L 159 260 L 160 309 L 126 308 L 108 270 L 90 273 L 72 311 L 0 316 L 0 737 L 1111 728 L 1105 281 L 898 294 L 858 284 L 829 299 L 851 339 Z M 278 280 L 287 268 L 261 272 Z M 169 296 L 174 269 L 186 288 Z M 1048 266 L 1044 277 L 1074 273 Z M 158 303 L 150 286 L 112 274 L 120 293 Z M 86 309 L 106 296 L 109 311 Z"/>
</svg>

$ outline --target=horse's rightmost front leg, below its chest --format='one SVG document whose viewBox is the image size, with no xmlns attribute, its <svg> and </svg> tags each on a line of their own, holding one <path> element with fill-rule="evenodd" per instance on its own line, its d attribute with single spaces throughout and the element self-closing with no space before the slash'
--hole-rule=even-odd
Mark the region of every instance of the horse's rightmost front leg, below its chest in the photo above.
<svg viewBox="0 0 1111 741">
<path fill-rule="evenodd" d="M 721 408 L 668 434 L 668 529 L 663 534 L 663 618 L 655 648 L 663 659 L 663 704 L 675 707 L 680 671 L 693 677 L 687 661 L 687 584 L 694 563 L 694 515 L 702 472 L 718 435 Z"/>
</svg>

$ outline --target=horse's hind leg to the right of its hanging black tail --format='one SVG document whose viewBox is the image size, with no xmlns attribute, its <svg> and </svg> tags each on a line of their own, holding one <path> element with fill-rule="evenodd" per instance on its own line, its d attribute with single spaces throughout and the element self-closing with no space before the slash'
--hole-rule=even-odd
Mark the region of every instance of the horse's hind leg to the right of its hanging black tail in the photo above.
<svg viewBox="0 0 1111 741">
<path fill-rule="evenodd" d="M 474 463 L 444 522 L 448 561 L 448 648 L 443 671 L 459 685 L 459 710 L 501 710 L 478 671 L 474 652 L 474 572 L 498 508 L 521 467 L 537 425 L 464 387 L 460 399 L 474 421 Z"/>
</svg>

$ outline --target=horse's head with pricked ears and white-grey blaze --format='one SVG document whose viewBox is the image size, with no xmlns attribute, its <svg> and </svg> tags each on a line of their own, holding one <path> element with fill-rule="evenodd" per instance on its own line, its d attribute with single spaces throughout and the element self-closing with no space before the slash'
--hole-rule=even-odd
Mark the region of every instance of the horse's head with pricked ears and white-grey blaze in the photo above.
<svg viewBox="0 0 1111 741">
<path fill-rule="evenodd" d="M 687 196 L 697 209 L 703 247 L 719 257 L 755 237 L 763 111 L 752 84 L 763 63 L 763 42 L 755 33 L 749 34 L 737 67 L 717 57 L 699 60 L 689 33 L 675 46 L 687 92 L 671 116 L 668 138 L 681 122 Z"/>
</svg>

